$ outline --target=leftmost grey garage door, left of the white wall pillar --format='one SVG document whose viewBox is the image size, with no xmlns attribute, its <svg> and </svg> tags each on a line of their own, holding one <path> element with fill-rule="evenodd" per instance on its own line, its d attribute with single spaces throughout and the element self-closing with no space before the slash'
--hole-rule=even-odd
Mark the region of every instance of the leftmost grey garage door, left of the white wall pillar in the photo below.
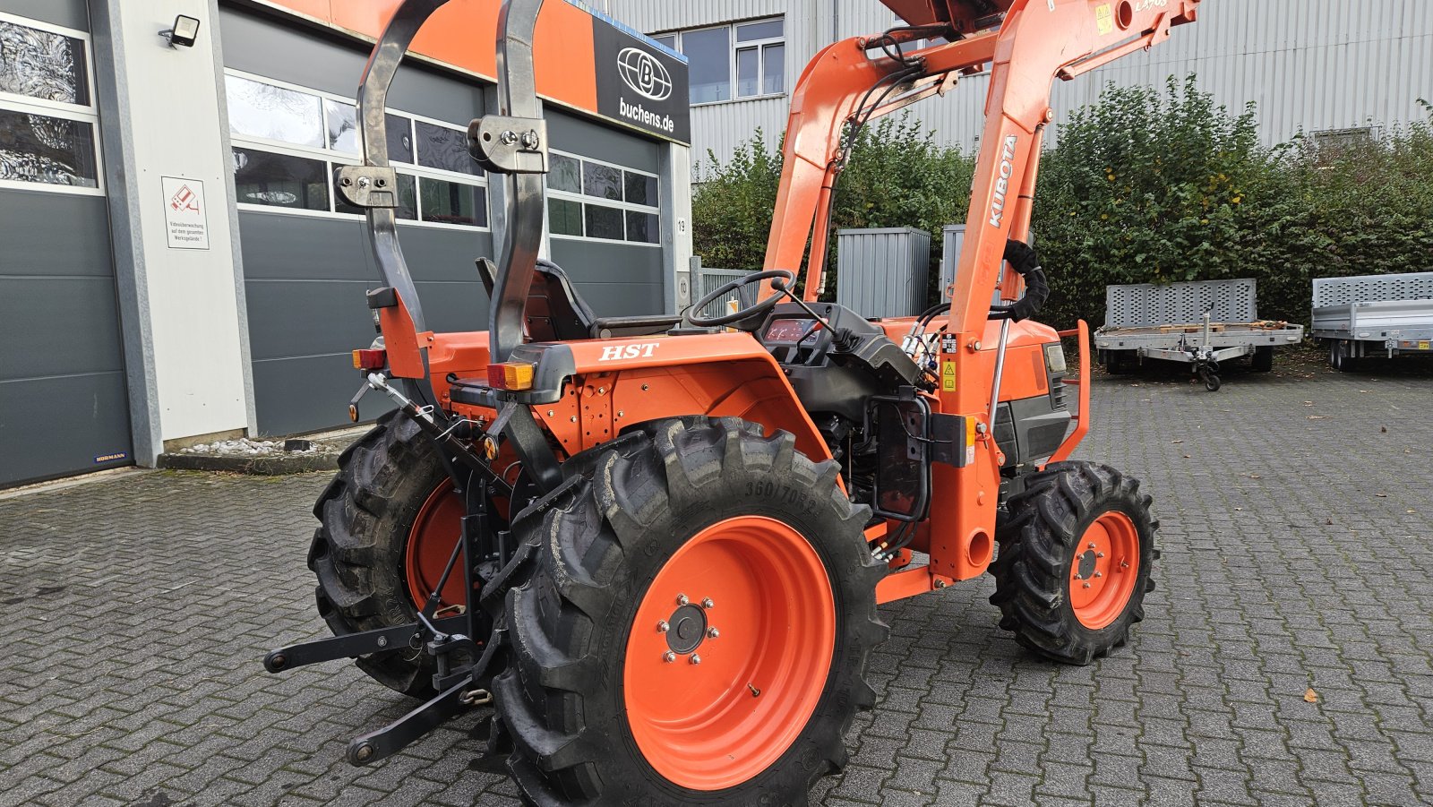
<svg viewBox="0 0 1433 807">
<path fill-rule="evenodd" d="M 83 0 L 0 0 L 0 486 L 129 464 Z"/>
</svg>

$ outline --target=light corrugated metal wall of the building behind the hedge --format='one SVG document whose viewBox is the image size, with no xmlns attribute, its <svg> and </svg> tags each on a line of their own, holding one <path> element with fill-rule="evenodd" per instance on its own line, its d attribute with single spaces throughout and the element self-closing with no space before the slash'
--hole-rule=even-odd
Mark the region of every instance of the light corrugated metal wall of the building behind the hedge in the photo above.
<svg viewBox="0 0 1433 807">
<path fill-rule="evenodd" d="M 605 0 L 613 17 L 653 33 L 785 14 L 787 83 L 837 37 L 877 33 L 893 16 L 877 0 Z M 1258 105 L 1265 143 L 1305 132 L 1423 118 L 1416 100 L 1433 100 L 1433 3 L 1427 0 L 1207 0 L 1199 22 L 1169 42 L 1136 53 L 1053 90 L 1056 120 L 1091 103 L 1106 82 L 1164 86 L 1168 76 L 1197 73 L 1202 89 L 1240 110 Z M 972 148 L 980 135 L 989 80 L 967 77 L 944 99 L 911 113 L 939 140 Z M 757 128 L 775 140 L 785 128 L 787 99 L 738 100 L 692 109 L 692 159 L 708 149 L 725 158 Z M 1058 136 L 1058 128 L 1053 133 Z"/>
</svg>

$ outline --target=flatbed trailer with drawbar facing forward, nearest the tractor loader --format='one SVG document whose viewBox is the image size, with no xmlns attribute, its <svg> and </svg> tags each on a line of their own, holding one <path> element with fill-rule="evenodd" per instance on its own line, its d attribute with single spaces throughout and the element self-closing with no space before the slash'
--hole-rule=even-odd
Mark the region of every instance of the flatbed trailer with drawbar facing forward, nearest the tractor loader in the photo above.
<svg viewBox="0 0 1433 807">
<path fill-rule="evenodd" d="M 1250 355 L 1250 366 L 1267 373 L 1275 347 L 1304 338 L 1303 325 L 1260 320 L 1255 298 L 1252 278 L 1109 285 L 1095 348 L 1111 373 L 1145 360 L 1179 361 L 1214 391 L 1221 361 Z"/>
</svg>

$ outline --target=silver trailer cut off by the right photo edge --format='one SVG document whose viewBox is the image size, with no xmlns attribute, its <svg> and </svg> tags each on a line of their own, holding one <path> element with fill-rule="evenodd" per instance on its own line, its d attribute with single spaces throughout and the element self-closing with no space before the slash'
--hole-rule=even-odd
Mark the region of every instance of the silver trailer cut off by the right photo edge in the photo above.
<svg viewBox="0 0 1433 807">
<path fill-rule="evenodd" d="M 1334 370 L 1369 355 L 1433 353 L 1433 272 L 1315 278 L 1311 325 Z"/>
</svg>

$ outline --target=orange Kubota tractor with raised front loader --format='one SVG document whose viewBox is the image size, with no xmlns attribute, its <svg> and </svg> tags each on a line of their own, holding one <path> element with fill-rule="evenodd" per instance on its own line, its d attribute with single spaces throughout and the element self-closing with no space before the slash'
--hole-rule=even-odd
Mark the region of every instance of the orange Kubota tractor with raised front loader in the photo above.
<svg viewBox="0 0 1433 807">
<path fill-rule="evenodd" d="M 1088 664 L 1122 645 L 1158 522 L 1135 479 L 1068 460 L 1089 429 L 1088 330 L 1030 318 L 1049 288 L 1023 241 L 1052 82 L 1165 40 L 1198 1 L 884 0 L 907 24 L 825 47 L 791 95 L 765 271 L 708 297 L 759 284 L 757 302 L 602 318 L 537 257 L 542 0 L 507 0 L 500 113 L 469 129 L 506 175 L 502 254 L 477 264 L 489 328 L 450 334 L 424 325 L 398 249 L 383 135 L 444 0 L 403 3 L 364 73 L 364 163 L 338 175 L 385 284 L 368 294 L 383 341 L 354 363 L 397 409 L 315 506 L 308 565 L 335 635 L 267 668 L 351 656 L 423 699 L 355 738 L 354 764 L 490 702 L 492 751 L 532 803 L 792 804 L 874 704 L 880 603 L 989 570 L 1000 626 L 1032 651 Z M 818 302 L 850 135 L 987 67 L 949 301 L 876 321 Z"/>
</svg>

